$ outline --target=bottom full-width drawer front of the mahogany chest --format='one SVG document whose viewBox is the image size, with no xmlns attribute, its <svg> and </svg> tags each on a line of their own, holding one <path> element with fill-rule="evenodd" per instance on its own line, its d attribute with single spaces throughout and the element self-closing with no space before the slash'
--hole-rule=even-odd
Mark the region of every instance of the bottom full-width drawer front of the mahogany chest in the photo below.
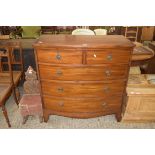
<svg viewBox="0 0 155 155">
<path fill-rule="evenodd" d="M 74 99 L 53 98 L 44 96 L 44 108 L 60 112 L 102 112 L 117 111 L 121 107 L 121 97 L 116 96 L 106 99 Z"/>
</svg>

